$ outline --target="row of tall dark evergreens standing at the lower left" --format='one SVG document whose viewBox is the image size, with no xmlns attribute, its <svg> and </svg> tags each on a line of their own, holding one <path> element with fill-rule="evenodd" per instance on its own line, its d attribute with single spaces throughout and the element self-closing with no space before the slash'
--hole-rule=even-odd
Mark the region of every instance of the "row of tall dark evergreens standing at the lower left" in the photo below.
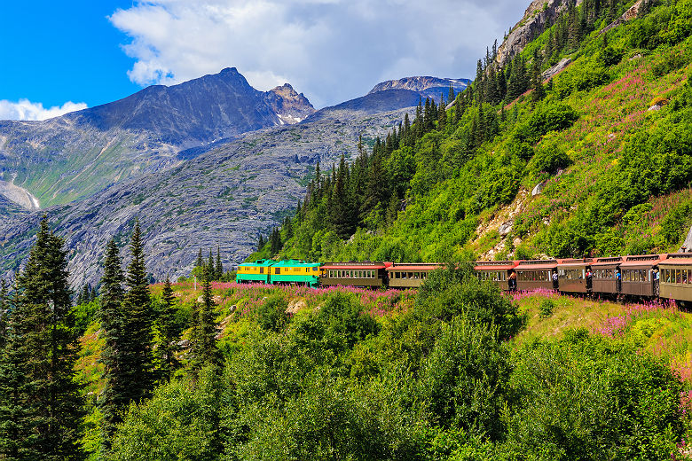
<svg viewBox="0 0 692 461">
<path fill-rule="evenodd" d="M 0 459 L 86 457 L 83 417 L 89 402 L 75 377 L 80 330 L 64 243 L 43 217 L 12 293 L 4 281 L 0 286 Z M 99 361 L 106 386 L 96 402 L 102 414 L 103 457 L 130 404 L 145 401 L 181 368 L 178 340 L 186 327 L 192 327 L 185 362 L 189 372 L 218 368 L 211 280 L 212 271 L 205 267 L 201 302 L 195 303 L 189 323 L 179 324 L 169 279 L 161 301 L 150 293 L 139 223 L 130 238 L 126 270 L 115 240 L 109 241 L 92 319 L 100 323 L 105 340 Z M 85 289 L 78 301 L 94 301 L 93 295 L 94 290 Z"/>
</svg>

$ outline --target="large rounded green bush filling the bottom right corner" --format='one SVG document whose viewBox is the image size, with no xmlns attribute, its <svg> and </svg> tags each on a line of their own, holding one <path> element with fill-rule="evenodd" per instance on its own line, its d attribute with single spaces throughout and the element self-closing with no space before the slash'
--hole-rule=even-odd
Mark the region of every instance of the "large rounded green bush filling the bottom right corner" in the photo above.
<svg viewBox="0 0 692 461">
<path fill-rule="evenodd" d="M 666 363 L 583 335 L 518 351 L 507 448 L 519 459 L 668 459 L 684 433 Z"/>
</svg>

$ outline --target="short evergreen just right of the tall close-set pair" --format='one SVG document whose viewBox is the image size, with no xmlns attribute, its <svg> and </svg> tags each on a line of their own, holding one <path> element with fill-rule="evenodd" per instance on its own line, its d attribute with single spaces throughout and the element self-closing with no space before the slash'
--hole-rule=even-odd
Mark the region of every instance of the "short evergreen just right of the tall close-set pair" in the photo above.
<svg viewBox="0 0 692 461">
<path fill-rule="evenodd" d="M 161 381 L 169 381 L 170 377 L 180 366 L 176 357 L 178 339 L 176 326 L 177 306 L 173 297 L 173 287 L 170 285 L 169 277 L 163 284 L 161 292 L 161 312 L 156 322 L 158 331 L 158 347 L 156 355 L 159 363 L 159 378 Z"/>
</svg>

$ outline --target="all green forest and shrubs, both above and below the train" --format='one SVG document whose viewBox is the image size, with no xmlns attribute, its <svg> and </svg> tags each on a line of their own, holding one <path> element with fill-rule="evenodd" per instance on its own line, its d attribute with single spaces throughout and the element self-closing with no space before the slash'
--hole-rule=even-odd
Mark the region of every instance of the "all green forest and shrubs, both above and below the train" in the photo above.
<svg viewBox="0 0 692 461">
<path fill-rule="evenodd" d="M 136 223 L 74 293 L 44 218 L 0 286 L 0 460 L 691 459 L 692 316 L 501 293 L 468 263 L 680 244 L 692 0 L 600 33 L 632 3 L 570 6 L 503 67 L 493 45 L 468 90 L 318 165 L 248 258 L 445 262 L 418 291 L 237 285 L 218 248 L 151 285 Z"/>
</svg>

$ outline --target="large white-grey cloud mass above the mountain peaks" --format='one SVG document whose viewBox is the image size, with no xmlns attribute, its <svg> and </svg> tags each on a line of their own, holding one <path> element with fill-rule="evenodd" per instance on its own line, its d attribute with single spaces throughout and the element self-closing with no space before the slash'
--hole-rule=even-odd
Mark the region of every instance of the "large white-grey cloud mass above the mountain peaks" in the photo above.
<svg viewBox="0 0 692 461">
<path fill-rule="evenodd" d="M 476 59 L 521 18 L 515 0 L 148 0 L 114 27 L 141 85 L 238 67 L 258 90 L 290 82 L 313 105 L 411 75 L 473 78 Z"/>
</svg>

